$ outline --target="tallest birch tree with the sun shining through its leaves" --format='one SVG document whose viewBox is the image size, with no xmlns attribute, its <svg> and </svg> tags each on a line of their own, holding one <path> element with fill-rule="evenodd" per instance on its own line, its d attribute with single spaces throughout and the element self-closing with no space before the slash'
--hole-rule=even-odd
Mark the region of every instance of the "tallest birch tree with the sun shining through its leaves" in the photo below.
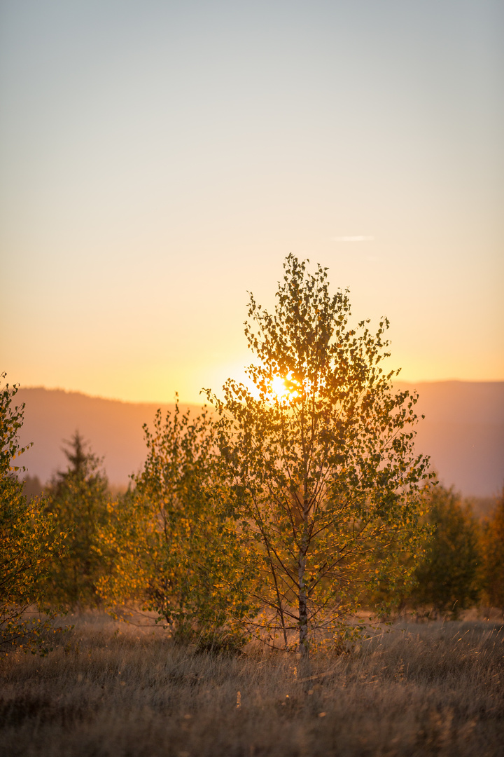
<svg viewBox="0 0 504 757">
<path fill-rule="evenodd" d="M 428 459 L 413 449 L 415 394 L 385 373 L 387 319 L 351 328 L 348 291 L 289 255 L 274 313 L 251 294 L 246 337 L 257 395 L 232 379 L 212 395 L 217 438 L 256 565 L 258 632 L 301 650 L 317 631 L 339 637 L 359 597 L 385 576 L 407 581 L 400 553 L 421 550 Z M 254 326 L 255 325 L 255 326 Z M 254 330 L 255 329 L 255 330 Z M 279 391 L 280 382 L 287 391 Z"/>
</svg>

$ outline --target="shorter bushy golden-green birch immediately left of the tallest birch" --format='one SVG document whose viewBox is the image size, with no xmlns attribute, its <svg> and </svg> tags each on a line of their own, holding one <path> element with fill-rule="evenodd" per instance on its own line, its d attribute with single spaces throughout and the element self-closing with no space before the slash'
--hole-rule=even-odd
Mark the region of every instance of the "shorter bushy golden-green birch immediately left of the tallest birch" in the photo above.
<svg viewBox="0 0 504 757">
<path fill-rule="evenodd" d="M 179 638 L 200 645 L 243 641 L 241 620 L 251 612 L 251 566 L 240 533 L 227 516 L 229 495 L 215 453 L 206 410 L 192 419 L 159 410 L 151 432 L 144 425 L 147 459 L 135 488 L 110 506 L 101 550 L 115 566 L 99 582 L 109 605 L 136 600 Z"/>
</svg>

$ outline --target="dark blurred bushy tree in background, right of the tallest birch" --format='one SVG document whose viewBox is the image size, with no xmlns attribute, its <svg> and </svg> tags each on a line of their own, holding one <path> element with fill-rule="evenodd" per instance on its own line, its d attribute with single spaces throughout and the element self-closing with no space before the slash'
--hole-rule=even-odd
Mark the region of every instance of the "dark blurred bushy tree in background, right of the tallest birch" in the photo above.
<svg viewBox="0 0 504 757">
<path fill-rule="evenodd" d="M 432 491 L 429 520 L 434 534 L 415 572 L 413 604 L 456 617 L 478 602 L 478 524 L 459 494 L 441 485 Z"/>
</svg>

